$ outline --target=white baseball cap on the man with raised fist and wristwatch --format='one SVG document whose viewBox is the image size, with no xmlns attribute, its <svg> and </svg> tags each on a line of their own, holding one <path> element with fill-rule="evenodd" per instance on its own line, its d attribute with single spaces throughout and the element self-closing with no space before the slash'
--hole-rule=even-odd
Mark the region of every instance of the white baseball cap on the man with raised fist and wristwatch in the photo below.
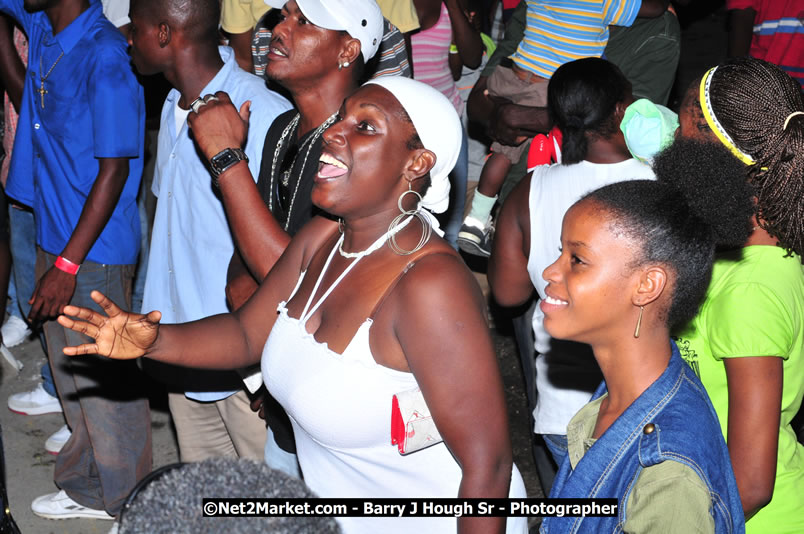
<svg viewBox="0 0 804 534">
<path fill-rule="evenodd" d="M 281 8 L 287 0 L 265 0 L 266 5 Z M 383 16 L 375 0 L 296 0 L 304 16 L 320 28 L 345 31 L 360 41 L 363 59 L 368 61 L 383 36 Z"/>
</svg>

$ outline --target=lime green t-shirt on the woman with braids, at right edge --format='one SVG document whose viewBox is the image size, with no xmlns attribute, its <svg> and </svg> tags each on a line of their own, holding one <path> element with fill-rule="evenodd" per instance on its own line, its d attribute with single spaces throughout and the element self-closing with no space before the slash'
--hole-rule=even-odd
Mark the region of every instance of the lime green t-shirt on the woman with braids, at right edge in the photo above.
<svg viewBox="0 0 804 534">
<path fill-rule="evenodd" d="M 729 395 L 724 358 L 781 357 L 782 414 L 773 498 L 746 523 L 751 534 L 804 532 L 804 446 L 790 421 L 804 396 L 804 272 L 784 249 L 750 246 L 719 254 L 698 315 L 676 332 L 727 436 Z"/>
</svg>

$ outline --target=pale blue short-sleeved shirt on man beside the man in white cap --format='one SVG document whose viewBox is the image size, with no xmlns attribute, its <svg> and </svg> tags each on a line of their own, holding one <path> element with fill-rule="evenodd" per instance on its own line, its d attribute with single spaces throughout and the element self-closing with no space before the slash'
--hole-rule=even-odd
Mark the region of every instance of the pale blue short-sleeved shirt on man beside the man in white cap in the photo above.
<svg viewBox="0 0 804 534">
<path fill-rule="evenodd" d="M 251 174 L 256 177 L 268 128 L 279 114 L 290 109 L 290 103 L 270 91 L 265 80 L 241 69 L 231 48 L 222 46 L 219 51 L 223 67 L 199 94 L 225 91 L 238 109 L 247 100 L 251 102 L 244 150 Z M 181 118 L 177 128 L 180 98 L 181 93 L 172 89 L 162 107 L 151 189 L 158 200 L 142 299 L 143 310 L 162 312 L 162 324 L 185 323 L 229 311 L 226 270 L 234 252 L 229 222 L 212 186 L 206 158 L 199 155 L 186 118 Z M 234 373 L 223 372 L 220 377 L 220 382 L 204 384 L 207 391 L 199 388 L 198 393 L 187 396 L 216 401 L 236 393 L 232 388 L 242 387 Z"/>
</svg>

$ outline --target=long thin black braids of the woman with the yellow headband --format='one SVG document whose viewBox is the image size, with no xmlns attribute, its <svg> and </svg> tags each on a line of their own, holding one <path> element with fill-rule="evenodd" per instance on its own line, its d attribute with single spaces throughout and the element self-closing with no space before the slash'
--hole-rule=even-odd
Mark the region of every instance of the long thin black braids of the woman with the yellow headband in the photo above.
<svg viewBox="0 0 804 534">
<path fill-rule="evenodd" d="M 776 65 L 741 57 L 717 68 L 710 98 L 723 128 L 756 162 L 748 179 L 759 224 L 804 255 L 804 115 L 791 116 L 804 112 L 801 87 Z"/>
</svg>

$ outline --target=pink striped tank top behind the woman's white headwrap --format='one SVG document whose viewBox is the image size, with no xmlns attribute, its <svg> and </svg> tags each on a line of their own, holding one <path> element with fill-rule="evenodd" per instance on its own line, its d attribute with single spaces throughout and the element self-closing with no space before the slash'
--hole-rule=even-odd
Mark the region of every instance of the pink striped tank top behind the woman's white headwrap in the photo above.
<svg viewBox="0 0 804 534">
<path fill-rule="evenodd" d="M 462 114 L 463 101 L 449 68 L 452 23 L 447 6 L 441 4 L 441 16 L 435 26 L 414 33 L 410 40 L 413 49 L 413 77 L 441 91 L 455 106 L 458 114 Z"/>
</svg>

